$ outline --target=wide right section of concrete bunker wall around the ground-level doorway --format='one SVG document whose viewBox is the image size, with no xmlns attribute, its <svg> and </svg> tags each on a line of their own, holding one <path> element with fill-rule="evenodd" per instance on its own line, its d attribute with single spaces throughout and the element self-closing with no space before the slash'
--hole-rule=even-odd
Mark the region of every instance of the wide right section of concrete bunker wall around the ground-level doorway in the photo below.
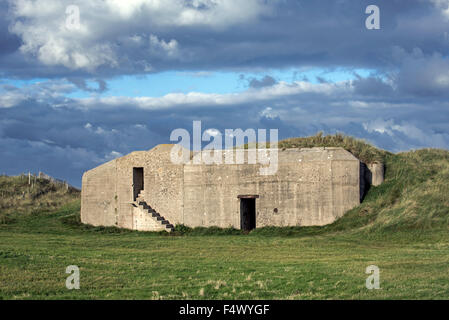
<svg viewBox="0 0 449 320">
<path fill-rule="evenodd" d="M 184 224 L 239 228 L 238 195 L 259 195 L 257 227 L 325 225 L 360 203 L 359 160 L 349 152 L 279 150 L 278 159 L 272 176 L 259 165 L 186 165 Z"/>
</svg>

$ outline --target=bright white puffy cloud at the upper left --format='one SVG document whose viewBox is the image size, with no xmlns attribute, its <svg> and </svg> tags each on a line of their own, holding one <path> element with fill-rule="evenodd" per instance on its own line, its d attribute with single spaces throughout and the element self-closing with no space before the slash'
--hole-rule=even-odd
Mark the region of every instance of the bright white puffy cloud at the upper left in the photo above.
<svg viewBox="0 0 449 320">
<path fill-rule="evenodd" d="M 178 56 L 176 39 L 164 40 L 153 30 L 205 25 L 226 28 L 267 12 L 261 0 L 9 0 L 10 31 L 22 40 L 20 51 L 47 66 L 94 72 L 100 66 L 117 68 L 130 62 L 120 42 L 133 41 L 140 50 L 150 47 L 148 60 L 133 61 L 151 70 L 151 59 Z M 66 8 L 79 8 L 80 28 L 66 26 Z M 136 34 L 129 36 L 129 31 Z M 151 31 L 151 33 L 149 33 Z M 141 36 L 144 34 L 146 36 Z M 148 39 L 145 44 L 144 39 Z M 123 45 L 126 45 L 124 43 Z"/>
</svg>

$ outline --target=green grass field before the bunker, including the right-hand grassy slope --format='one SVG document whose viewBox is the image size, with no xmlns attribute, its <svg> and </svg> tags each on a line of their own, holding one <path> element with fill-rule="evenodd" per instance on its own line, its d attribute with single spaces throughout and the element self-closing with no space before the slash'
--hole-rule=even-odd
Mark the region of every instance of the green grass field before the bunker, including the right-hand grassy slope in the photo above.
<svg viewBox="0 0 449 320">
<path fill-rule="evenodd" d="M 326 227 L 166 233 L 79 224 L 79 200 L 0 224 L 2 299 L 449 299 L 449 152 L 386 154 Z M 80 267 L 68 290 L 66 267 Z M 379 290 L 365 269 L 380 268 Z"/>
</svg>

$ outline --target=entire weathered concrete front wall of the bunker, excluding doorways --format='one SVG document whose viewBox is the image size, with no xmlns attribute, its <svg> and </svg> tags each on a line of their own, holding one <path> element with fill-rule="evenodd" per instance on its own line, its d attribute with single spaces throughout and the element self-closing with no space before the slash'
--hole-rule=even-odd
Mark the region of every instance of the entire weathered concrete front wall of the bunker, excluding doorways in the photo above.
<svg viewBox="0 0 449 320">
<path fill-rule="evenodd" d="M 257 227 L 325 225 L 360 203 L 360 161 L 342 148 L 277 150 L 277 173 L 263 176 L 259 164 L 173 164 L 172 146 L 133 152 L 86 172 L 82 222 L 160 230 L 133 206 L 134 167 L 144 170 L 146 203 L 174 225 L 240 228 L 239 195 L 259 196 Z"/>
</svg>

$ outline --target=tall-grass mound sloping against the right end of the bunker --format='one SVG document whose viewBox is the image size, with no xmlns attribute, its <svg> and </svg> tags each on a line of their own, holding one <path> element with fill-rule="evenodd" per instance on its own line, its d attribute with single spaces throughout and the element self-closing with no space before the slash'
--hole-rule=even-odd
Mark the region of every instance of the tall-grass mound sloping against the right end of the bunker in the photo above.
<svg viewBox="0 0 449 320">
<path fill-rule="evenodd" d="M 385 182 L 371 187 L 363 203 L 324 227 L 266 227 L 259 235 L 363 233 L 394 236 L 449 229 L 449 151 L 423 149 L 387 154 Z"/>
</svg>

